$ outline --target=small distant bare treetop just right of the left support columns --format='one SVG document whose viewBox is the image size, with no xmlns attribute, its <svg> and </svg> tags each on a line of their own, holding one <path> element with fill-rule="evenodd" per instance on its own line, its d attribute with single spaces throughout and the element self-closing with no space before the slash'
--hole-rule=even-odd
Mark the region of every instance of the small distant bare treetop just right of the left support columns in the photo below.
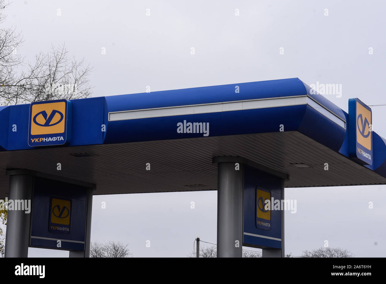
<svg viewBox="0 0 386 284">
<path fill-rule="evenodd" d="M 108 241 L 107 243 L 92 242 L 90 257 L 132 257 L 132 253 L 121 242 Z"/>
</svg>

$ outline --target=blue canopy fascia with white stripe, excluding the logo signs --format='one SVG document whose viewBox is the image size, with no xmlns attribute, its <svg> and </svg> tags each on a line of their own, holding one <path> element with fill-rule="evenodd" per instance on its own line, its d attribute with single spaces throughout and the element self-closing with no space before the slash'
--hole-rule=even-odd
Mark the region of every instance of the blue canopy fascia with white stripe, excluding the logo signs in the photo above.
<svg viewBox="0 0 386 284">
<path fill-rule="evenodd" d="M 348 114 L 310 90 L 291 78 L 71 100 L 71 141 L 55 147 L 279 132 L 283 125 L 349 158 Z M 39 148 L 28 145 L 29 108 L 0 107 L 0 151 Z M 386 177 L 386 140 L 372 135 L 374 161 L 365 167 Z"/>
</svg>

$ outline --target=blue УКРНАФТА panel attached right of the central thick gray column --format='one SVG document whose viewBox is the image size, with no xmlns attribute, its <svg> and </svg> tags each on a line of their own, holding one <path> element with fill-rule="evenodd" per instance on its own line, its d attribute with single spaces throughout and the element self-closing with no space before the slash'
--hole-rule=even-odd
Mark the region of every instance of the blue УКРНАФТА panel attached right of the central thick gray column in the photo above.
<svg viewBox="0 0 386 284">
<path fill-rule="evenodd" d="M 244 246 L 281 249 L 280 201 L 281 178 L 244 166 Z"/>
</svg>

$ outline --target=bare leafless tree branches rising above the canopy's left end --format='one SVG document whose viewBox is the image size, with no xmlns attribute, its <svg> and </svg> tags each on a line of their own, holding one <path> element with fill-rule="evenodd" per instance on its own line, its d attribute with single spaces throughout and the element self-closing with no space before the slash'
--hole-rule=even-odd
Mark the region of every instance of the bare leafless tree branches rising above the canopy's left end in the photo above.
<svg viewBox="0 0 386 284">
<path fill-rule="evenodd" d="M 9 3 L 0 0 L 0 24 Z M 16 30 L 0 28 L 0 105 L 34 101 L 87 98 L 92 93 L 90 65 L 68 56 L 65 45 L 51 46 L 33 62 L 24 63 L 18 53 L 23 40 Z"/>
</svg>

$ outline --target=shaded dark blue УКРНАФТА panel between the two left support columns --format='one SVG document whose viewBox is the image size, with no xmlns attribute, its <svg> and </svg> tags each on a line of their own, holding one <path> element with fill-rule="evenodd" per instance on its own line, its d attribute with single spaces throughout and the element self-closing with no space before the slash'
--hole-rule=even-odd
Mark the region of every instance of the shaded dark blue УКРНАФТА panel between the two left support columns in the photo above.
<svg viewBox="0 0 386 284">
<path fill-rule="evenodd" d="M 87 190 L 84 186 L 35 177 L 30 246 L 84 250 Z"/>
</svg>

